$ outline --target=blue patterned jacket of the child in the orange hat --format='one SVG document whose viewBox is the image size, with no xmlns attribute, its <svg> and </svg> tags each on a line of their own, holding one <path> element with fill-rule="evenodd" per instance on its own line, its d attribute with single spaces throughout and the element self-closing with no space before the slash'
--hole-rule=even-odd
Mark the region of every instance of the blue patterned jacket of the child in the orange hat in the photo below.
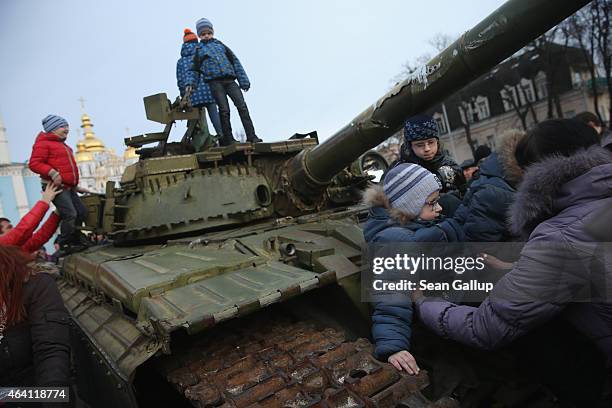
<svg viewBox="0 0 612 408">
<path fill-rule="evenodd" d="M 215 103 L 210 86 L 193 70 L 193 57 L 199 44 L 195 41 L 184 43 L 181 48 L 181 58 L 176 62 L 176 84 L 181 96 L 185 95 L 187 86 L 194 86 L 191 94 L 191 106 L 200 107 Z"/>
</svg>

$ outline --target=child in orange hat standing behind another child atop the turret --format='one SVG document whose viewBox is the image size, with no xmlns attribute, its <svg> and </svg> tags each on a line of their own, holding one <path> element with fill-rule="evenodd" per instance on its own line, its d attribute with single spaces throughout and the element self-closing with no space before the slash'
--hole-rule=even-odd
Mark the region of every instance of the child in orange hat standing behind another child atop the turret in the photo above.
<svg viewBox="0 0 612 408">
<path fill-rule="evenodd" d="M 215 103 L 215 98 L 212 95 L 210 86 L 200 78 L 200 75 L 191 69 L 193 65 L 193 57 L 198 48 L 198 36 L 186 28 L 183 35 L 183 45 L 181 47 L 181 58 L 176 62 L 176 83 L 179 88 L 181 98 L 189 99 L 191 106 L 198 108 L 200 111 L 199 122 L 200 131 L 193 137 L 193 147 L 199 151 L 203 146 L 212 145 L 214 139 L 206 140 L 210 137 L 208 132 L 208 124 L 206 122 L 206 113 L 215 128 L 217 135 L 221 135 L 221 119 L 219 118 L 219 108 Z M 195 85 L 192 85 L 195 84 Z M 193 119 L 195 120 L 195 119 Z M 190 121 L 191 122 L 191 121 Z M 192 126 L 191 123 L 187 125 Z"/>
</svg>

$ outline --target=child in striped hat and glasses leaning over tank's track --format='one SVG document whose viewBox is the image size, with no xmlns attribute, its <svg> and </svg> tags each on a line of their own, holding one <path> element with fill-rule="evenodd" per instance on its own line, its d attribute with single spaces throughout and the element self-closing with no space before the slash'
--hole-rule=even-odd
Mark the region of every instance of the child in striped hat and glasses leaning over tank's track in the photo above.
<svg viewBox="0 0 612 408">
<path fill-rule="evenodd" d="M 441 183 L 413 163 L 400 163 L 385 175 L 383 186 L 370 187 L 364 203 L 370 207 L 363 235 L 368 243 L 458 242 L 460 226 L 453 220 L 439 221 Z M 372 337 L 374 356 L 399 371 L 418 374 L 410 354 L 412 302 L 408 296 L 373 302 Z"/>
</svg>

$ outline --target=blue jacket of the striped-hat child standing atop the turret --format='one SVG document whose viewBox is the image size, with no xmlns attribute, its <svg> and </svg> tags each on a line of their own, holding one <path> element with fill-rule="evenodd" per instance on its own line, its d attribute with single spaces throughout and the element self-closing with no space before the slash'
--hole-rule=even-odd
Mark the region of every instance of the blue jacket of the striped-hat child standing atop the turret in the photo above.
<svg viewBox="0 0 612 408">
<path fill-rule="evenodd" d="M 194 56 L 194 71 L 206 82 L 216 79 L 237 79 L 240 88 L 249 89 L 251 82 L 238 57 L 221 41 L 201 41 Z"/>
</svg>

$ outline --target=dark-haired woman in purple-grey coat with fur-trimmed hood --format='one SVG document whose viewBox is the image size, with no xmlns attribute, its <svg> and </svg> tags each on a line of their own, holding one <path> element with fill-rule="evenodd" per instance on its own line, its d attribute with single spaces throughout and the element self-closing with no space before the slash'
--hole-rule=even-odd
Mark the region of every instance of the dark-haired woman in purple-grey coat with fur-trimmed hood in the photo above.
<svg viewBox="0 0 612 408">
<path fill-rule="evenodd" d="M 610 250 L 586 232 L 612 206 L 612 154 L 598 144 L 592 129 L 572 120 L 543 122 L 519 143 L 517 160 L 528 168 L 510 216 L 513 231 L 528 237 L 520 259 L 479 307 L 420 297 L 427 327 L 496 349 L 561 316 L 612 365 L 612 304 L 600 299 L 608 295 L 600 282 L 612 276 Z"/>
</svg>

